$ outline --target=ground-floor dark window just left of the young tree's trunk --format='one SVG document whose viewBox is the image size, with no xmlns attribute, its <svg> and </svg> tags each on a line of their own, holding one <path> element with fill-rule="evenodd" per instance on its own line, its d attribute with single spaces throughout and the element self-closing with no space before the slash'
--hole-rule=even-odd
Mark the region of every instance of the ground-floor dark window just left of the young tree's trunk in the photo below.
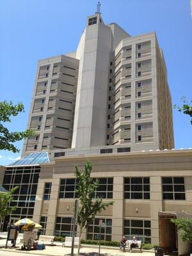
<svg viewBox="0 0 192 256">
<path fill-rule="evenodd" d="M 54 236 L 72 236 L 73 218 L 72 217 L 56 217 L 56 225 Z M 77 225 L 76 225 L 77 233 Z"/>
</svg>

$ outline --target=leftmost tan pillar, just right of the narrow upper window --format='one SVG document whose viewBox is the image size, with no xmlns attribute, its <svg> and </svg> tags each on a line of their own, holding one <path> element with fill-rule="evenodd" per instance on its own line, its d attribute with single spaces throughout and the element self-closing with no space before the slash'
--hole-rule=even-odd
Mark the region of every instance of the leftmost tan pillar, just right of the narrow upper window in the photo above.
<svg viewBox="0 0 192 256">
<path fill-rule="evenodd" d="M 50 195 L 49 209 L 47 214 L 47 227 L 45 232 L 45 235 L 47 236 L 54 235 L 59 191 L 60 191 L 60 179 L 52 179 L 51 195 Z"/>
</svg>

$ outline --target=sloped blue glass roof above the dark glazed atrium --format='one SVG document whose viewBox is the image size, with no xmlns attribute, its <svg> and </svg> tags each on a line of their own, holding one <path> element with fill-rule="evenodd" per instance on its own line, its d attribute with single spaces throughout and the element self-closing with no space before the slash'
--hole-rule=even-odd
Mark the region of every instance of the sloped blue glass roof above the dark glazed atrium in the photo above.
<svg viewBox="0 0 192 256">
<path fill-rule="evenodd" d="M 21 159 L 8 164 L 8 166 L 17 165 L 33 165 L 33 164 L 45 164 L 54 163 L 54 159 L 50 156 L 48 152 L 36 152 L 31 153 L 28 156 L 22 157 Z"/>
</svg>

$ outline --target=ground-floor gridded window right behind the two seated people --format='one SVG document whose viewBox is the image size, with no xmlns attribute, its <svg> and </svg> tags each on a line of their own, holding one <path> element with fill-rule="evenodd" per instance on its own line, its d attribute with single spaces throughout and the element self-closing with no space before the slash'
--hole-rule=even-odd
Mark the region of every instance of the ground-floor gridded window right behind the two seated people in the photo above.
<svg viewBox="0 0 192 256">
<path fill-rule="evenodd" d="M 124 236 L 127 240 L 135 236 L 142 243 L 151 243 L 150 220 L 124 220 Z"/>
</svg>

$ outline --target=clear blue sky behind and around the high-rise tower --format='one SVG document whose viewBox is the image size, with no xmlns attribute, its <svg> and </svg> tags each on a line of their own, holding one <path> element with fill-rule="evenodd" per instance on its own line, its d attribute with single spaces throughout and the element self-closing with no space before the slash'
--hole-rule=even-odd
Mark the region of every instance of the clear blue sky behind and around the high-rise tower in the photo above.
<svg viewBox="0 0 192 256">
<path fill-rule="evenodd" d="M 106 24 L 118 23 L 130 35 L 156 31 L 163 49 L 173 104 L 192 99 L 192 19 L 189 0 L 102 0 Z M 76 51 L 95 0 L 1 0 L 0 100 L 23 102 L 26 112 L 12 119 L 12 131 L 26 129 L 38 60 Z M 175 148 L 192 147 L 189 116 L 173 109 Z M 22 148 L 22 141 L 16 143 Z M 20 154 L 0 151 L 0 164 Z"/>
</svg>

